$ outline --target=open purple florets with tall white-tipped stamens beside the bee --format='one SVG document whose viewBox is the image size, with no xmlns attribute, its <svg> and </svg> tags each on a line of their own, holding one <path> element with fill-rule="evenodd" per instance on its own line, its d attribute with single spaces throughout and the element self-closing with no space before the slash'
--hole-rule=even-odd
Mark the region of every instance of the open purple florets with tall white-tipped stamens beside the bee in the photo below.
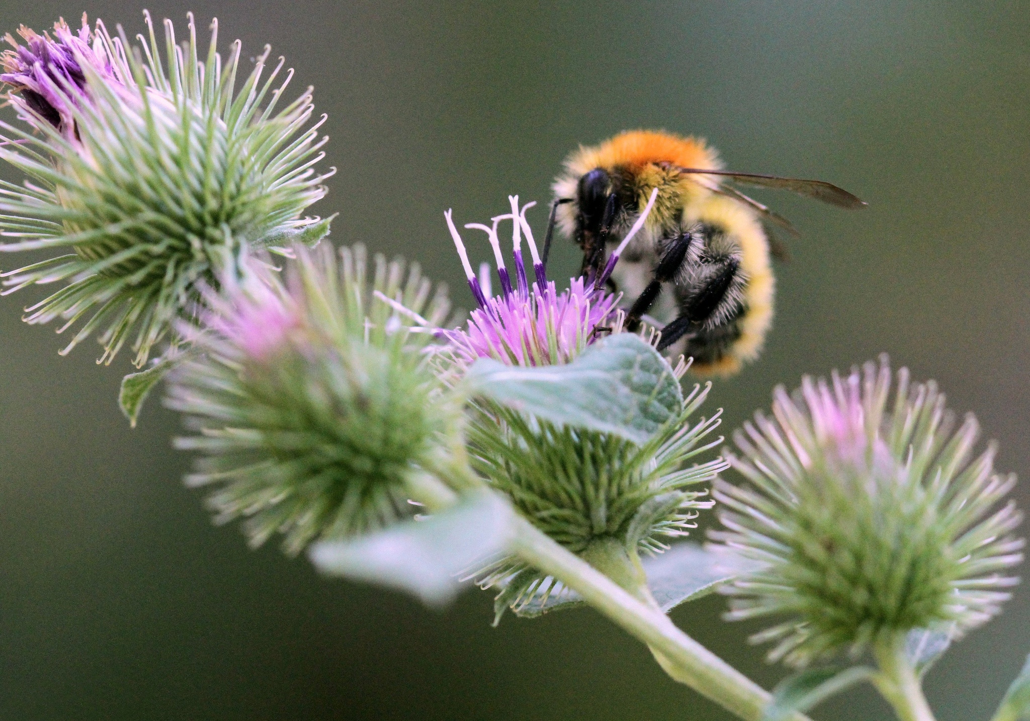
<svg viewBox="0 0 1030 721">
<path fill-rule="evenodd" d="M 488 357 L 511 366 L 554 366 L 569 363 L 603 333 L 619 332 L 622 311 L 616 310 L 618 296 L 605 289 L 605 281 L 618 261 L 620 247 L 612 253 L 605 272 L 596 278 L 579 277 L 560 294 L 553 281 L 547 280 L 544 263 L 537 250 L 533 231 L 525 219 L 525 211 L 536 203 L 519 207 L 518 196 L 509 196 L 511 212 L 491 218 L 492 226 L 468 224 L 466 228 L 487 234 L 496 261 L 502 295 L 490 297 L 488 267 L 477 277 L 466 252 L 451 211 L 444 213 L 454 246 L 465 268 L 469 287 L 479 308 L 472 312 L 466 328 L 439 330 L 437 334 L 447 343 L 446 353 L 464 371 L 478 358 Z M 653 197 L 652 197 L 653 203 Z M 634 231 L 643 226 L 651 205 L 641 214 Z M 505 265 L 497 240 L 497 225 L 512 220 L 512 255 L 515 260 L 516 286 Z M 529 286 L 522 263 L 521 240 L 525 236 L 533 260 L 536 282 Z M 632 235 L 627 235 L 631 239 Z M 486 264 L 483 264 L 486 266 Z"/>
</svg>

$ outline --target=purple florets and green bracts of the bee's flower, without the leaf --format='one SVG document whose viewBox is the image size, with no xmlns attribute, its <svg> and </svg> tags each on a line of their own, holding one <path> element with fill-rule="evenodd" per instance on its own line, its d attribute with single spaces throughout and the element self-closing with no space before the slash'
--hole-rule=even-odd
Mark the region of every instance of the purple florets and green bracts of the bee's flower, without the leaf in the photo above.
<svg viewBox="0 0 1030 721">
<path fill-rule="evenodd" d="M 654 195 L 652 203 L 653 200 Z M 615 308 L 618 298 L 604 289 L 605 281 L 625 244 L 643 226 L 651 205 L 609 258 L 600 274 L 573 278 L 569 288 L 559 294 L 555 283 L 547 280 L 525 220 L 525 211 L 534 204 L 520 207 L 517 196 L 509 201 L 511 212 L 493 217 L 491 226 L 466 226 L 487 235 L 501 282 L 502 293 L 496 297 L 490 293 L 488 266 L 478 277 L 473 273 L 451 213 L 445 214 L 469 285 L 479 304 L 464 329 L 437 331 L 444 341 L 443 349 L 438 352 L 451 360 L 443 369 L 448 381 L 453 375 L 462 375 L 480 358 L 522 367 L 575 363 L 597 340 L 622 331 L 624 316 Z M 497 238 L 497 226 L 506 219 L 514 226 L 514 283 Z M 523 235 L 536 276 L 531 287 L 521 258 Z M 726 468 L 721 458 L 697 462 L 721 443 L 721 439 L 708 440 L 719 425 L 720 414 L 693 424 L 688 422 L 711 385 L 703 389 L 695 386 L 683 399 L 679 380 L 689 364 L 681 358 L 674 369 L 656 353 L 653 355 L 650 359 L 660 366 L 655 379 L 660 382 L 663 376 L 675 376 L 673 384 L 682 403 L 674 417 L 646 442 L 585 427 L 557 425 L 485 400 L 476 402 L 469 427 L 473 467 L 494 488 L 505 492 L 526 518 L 552 539 L 633 591 L 644 593 L 639 552 L 661 552 L 668 548 L 663 539 L 686 536 L 695 527 L 699 510 L 713 505 L 702 484 Z M 499 596 L 499 618 L 509 605 L 522 609 L 535 599 L 542 607 L 548 598 L 561 597 L 568 591 L 554 579 L 514 557 L 495 559 L 476 576 L 484 587 L 505 588 Z"/>
</svg>

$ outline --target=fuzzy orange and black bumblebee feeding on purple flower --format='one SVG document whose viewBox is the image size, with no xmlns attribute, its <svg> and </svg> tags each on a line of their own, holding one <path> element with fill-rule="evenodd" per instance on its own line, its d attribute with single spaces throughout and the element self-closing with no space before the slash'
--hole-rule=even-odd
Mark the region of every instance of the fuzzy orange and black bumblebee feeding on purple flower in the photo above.
<svg viewBox="0 0 1030 721">
<path fill-rule="evenodd" d="M 763 226 L 797 232 L 732 185 L 793 191 L 842 208 L 865 203 L 821 180 L 723 170 L 699 138 L 628 131 L 581 146 L 554 182 L 544 260 L 555 226 L 583 250 L 597 276 L 653 196 L 644 226 L 622 250 L 609 285 L 627 305 L 629 330 L 661 328 L 660 351 L 680 351 L 702 375 L 731 375 L 761 350 L 772 321 L 770 254 L 782 246 Z"/>
</svg>

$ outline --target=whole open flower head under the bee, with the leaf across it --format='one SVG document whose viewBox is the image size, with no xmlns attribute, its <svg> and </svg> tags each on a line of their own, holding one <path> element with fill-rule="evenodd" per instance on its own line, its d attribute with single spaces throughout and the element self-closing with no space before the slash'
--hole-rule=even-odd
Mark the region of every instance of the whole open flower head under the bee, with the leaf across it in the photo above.
<svg viewBox="0 0 1030 721">
<path fill-rule="evenodd" d="M 473 467 L 540 529 L 647 597 L 639 552 L 661 552 L 663 540 L 687 535 L 698 511 L 712 506 L 702 484 L 725 468 L 721 458 L 700 461 L 721 442 L 708 439 L 719 413 L 688 422 L 708 388 L 695 386 L 684 398 L 680 378 L 688 364 L 681 358 L 674 369 L 650 342 L 622 333 L 618 299 L 604 289 L 651 204 L 602 273 L 574 278 L 559 293 L 525 220 L 533 204 L 509 200 L 511 212 L 491 226 L 466 226 L 487 234 L 501 281 L 496 297 L 488 267 L 479 277 L 473 273 L 446 214 L 479 308 L 465 328 L 438 331 L 444 345 L 437 350 L 451 360 L 442 364 L 448 381 L 464 378 L 477 399 L 469 428 Z M 497 239 L 506 219 L 514 225 L 514 283 Z M 522 235 L 536 275 L 531 287 Z M 543 608 L 568 591 L 510 556 L 480 569 L 478 578 L 504 587 L 499 615 L 508 606 Z"/>
</svg>

